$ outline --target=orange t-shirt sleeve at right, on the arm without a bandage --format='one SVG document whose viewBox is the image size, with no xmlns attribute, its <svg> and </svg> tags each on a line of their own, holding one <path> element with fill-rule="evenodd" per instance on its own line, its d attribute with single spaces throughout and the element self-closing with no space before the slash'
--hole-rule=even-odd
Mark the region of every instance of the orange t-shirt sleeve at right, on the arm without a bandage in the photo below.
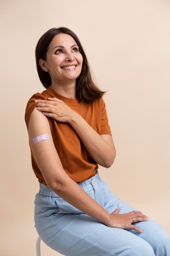
<svg viewBox="0 0 170 256">
<path fill-rule="evenodd" d="M 110 130 L 110 126 L 108 124 L 108 116 L 107 116 L 107 112 L 106 112 L 106 105 L 104 103 L 103 98 L 101 99 L 101 111 L 102 111 L 102 115 L 101 115 L 100 135 L 102 135 L 102 134 L 112 135 L 111 130 Z"/>
</svg>

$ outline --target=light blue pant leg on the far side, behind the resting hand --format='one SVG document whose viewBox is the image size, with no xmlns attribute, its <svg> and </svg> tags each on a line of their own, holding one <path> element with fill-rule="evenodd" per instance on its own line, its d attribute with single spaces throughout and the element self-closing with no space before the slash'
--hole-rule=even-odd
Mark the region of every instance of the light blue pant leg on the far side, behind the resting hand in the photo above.
<svg viewBox="0 0 170 256">
<path fill-rule="evenodd" d="M 112 213 L 117 207 L 120 209 L 120 214 L 136 210 L 134 207 L 122 202 L 120 198 L 115 200 L 115 195 L 110 191 L 104 208 L 109 213 Z M 152 246 L 156 256 L 170 256 L 170 238 L 158 223 L 148 218 L 146 222 L 135 222 L 133 225 L 142 229 L 143 232 L 138 233 L 133 229 L 127 230 L 146 240 Z"/>
</svg>

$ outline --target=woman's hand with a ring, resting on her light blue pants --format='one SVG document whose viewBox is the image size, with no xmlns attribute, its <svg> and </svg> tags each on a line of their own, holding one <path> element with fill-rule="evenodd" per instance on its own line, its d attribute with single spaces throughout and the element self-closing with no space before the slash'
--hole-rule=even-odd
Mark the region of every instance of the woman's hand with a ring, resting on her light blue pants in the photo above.
<svg viewBox="0 0 170 256">
<path fill-rule="evenodd" d="M 132 223 L 138 221 L 147 221 L 148 216 L 141 213 L 141 211 L 130 211 L 129 213 L 119 214 L 120 209 L 117 208 L 113 213 L 110 214 L 110 222 L 108 227 L 117 227 L 121 229 L 134 229 L 139 233 L 142 233 L 142 230 L 137 226 L 132 225 Z"/>
</svg>

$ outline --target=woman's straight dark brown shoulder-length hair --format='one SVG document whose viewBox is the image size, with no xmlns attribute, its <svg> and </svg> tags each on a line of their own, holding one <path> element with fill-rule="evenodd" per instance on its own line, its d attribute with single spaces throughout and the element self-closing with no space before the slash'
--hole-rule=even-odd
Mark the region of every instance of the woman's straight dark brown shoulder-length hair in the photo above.
<svg viewBox="0 0 170 256">
<path fill-rule="evenodd" d="M 68 34 L 73 37 L 73 39 L 75 40 L 75 42 L 79 47 L 79 52 L 82 54 L 82 57 L 83 57 L 82 71 L 76 79 L 76 92 L 75 92 L 76 98 L 79 99 L 79 101 L 83 100 L 86 103 L 90 103 L 95 99 L 102 98 L 105 92 L 102 92 L 99 88 L 97 88 L 97 86 L 95 85 L 95 82 L 93 81 L 93 78 L 91 75 L 91 69 L 88 65 L 87 57 L 79 41 L 79 38 L 76 36 L 76 34 L 73 31 L 71 31 L 66 27 L 49 29 L 48 31 L 46 31 L 46 33 L 44 33 L 41 36 L 41 38 L 37 43 L 37 46 L 35 49 L 35 58 L 36 58 L 38 76 L 40 78 L 42 85 L 45 88 L 49 88 L 49 86 L 51 85 L 51 76 L 49 72 L 45 72 L 40 67 L 39 60 L 40 58 L 42 58 L 44 61 L 46 61 L 46 53 L 49 49 L 49 44 L 53 40 L 54 36 L 61 33 Z"/>
</svg>

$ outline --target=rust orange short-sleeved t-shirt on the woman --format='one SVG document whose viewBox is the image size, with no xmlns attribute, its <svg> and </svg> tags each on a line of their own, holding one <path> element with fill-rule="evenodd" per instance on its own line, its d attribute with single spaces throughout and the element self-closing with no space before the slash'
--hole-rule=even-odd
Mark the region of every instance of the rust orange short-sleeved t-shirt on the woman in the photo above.
<svg viewBox="0 0 170 256">
<path fill-rule="evenodd" d="M 35 93 L 28 101 L 25 110 L 25 122 L 29 128 L 29 119 L 34 108 L 37 106 L 35 99 L 44 99 L 56 97 L 64 101 L 69 107 L 81 115 L 86 122 L 99 134 L 111 134 L 108 124 L 105 103 L 103 98 L 96 99 L 92 103 L 79 102 L 78 99 L 71 99 L 61 96 L 53 89 L 48 88 L 42 93 Z M 82 182 L 90 179 L 97 173 L 98 165 L 86 150 L 79 136 L 70 124 L 56 121 L 47 117 L 51 128 L 51 134 L 57 153 L 60 157 L 64 171 L 75 182 Z M 30 144 L 29 144 L 30 145 Z M 35 176 L 40 183 L 46 185 L 44 177 L 35 161 L 31 150 L 31 163 Z"/>
</svg>

